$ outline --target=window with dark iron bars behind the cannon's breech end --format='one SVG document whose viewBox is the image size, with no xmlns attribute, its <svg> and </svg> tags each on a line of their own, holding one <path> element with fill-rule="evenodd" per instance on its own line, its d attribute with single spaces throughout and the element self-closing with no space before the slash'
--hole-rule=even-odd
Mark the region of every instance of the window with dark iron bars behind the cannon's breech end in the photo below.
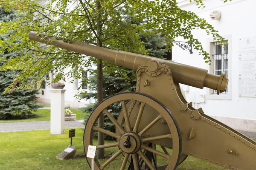
<svg viewBox="0 0 256 170">
<path fill-rule="evenodd" d="M 228 44 L 227 42 L 220 44 L 219 42 L 212 42 L 214 43 L 213 45 L 213 54 L 212 54 L 212 59 L 213 59 L 213 74 L 215 75 L 221 75 L 221 73 L 225 73 L 227 77 L 227 59 L 228 59 Z M 227 77 L 228 78 L 228 77 Z M 213 91 L 213 94 L 216 94 L 217 91 Z M 227 94 L 228 89 L 221 93 L 221 94 Z"/>
</svg>

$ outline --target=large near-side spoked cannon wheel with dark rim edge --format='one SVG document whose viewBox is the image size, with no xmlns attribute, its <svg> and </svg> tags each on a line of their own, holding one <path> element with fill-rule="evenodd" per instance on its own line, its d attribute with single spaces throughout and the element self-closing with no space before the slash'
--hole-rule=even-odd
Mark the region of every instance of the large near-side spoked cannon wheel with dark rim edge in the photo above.
<svg viewBox="0 0 256 170">
<path fill-rule="evenodd" d="M 140 109 L 137 113 L 136 120 L 133 121 L 132 114 L 129 113 L 129 108 L 126 105 L 127 101 L 136 101 L 140 103 Z M 111 115 L 111 110 L 108 110 L 110 105 L 117 104 L 122 108 L 124 115 L 124 124 L 120 124 Z M 153 108 L 153 112 L 151 112 Z M 148 110 L 150 109 L 150 110 Z M 108 119 L 116 126 L 118 133 L 113 133 L 104 128 L 97 127 L 99 115 L 104 113 Z M 133 113 L 134 114 L 134 113 Z M 134 116 L 133 116 L 134 117 Z M 165 129 L 158 129 L 158 124 L 165 122 Z M 102 132 L 105 135 L 116 138 L 117 142 L 96 146 L 97 149 L 116 147 L 116 153 L 104 162 L 95 159 L 95 170 L 102 170 L 110 166 L 111 162 L 119 158 L 122 163 L 120 167 L 115 169 L 124 170 L 125 167 L 134 170 L 159 169 L 154 157 L 160 156 L 168 162 L 164 166 L 165 170 L 175 170 L 180 159 L 181 154 L 181 134 L 177 122 L 163 104 L 158 102 L 151 96 L 141 93 L 123 93 L 111 96 L 102 101 L 87 120 L 84 130 L 84 152 L 87 155 L 89 145 L 93 145 L 93 133 L 95 131 Z M 164 133 L 164 134 L 163 134 Z M 168 152 L 161 152 L 157 149 L 156 141 L 168 140 L 172 143 L 172 154 Z M 148 159 L 148 153 L 151 153 Z M 121 158 L 120 158 L 121 157 Z M 91 159 L 87 158 L 88 164 L 91 164 Z M 163 169 L 163 168 L 160 168 Z"/>
</svg>

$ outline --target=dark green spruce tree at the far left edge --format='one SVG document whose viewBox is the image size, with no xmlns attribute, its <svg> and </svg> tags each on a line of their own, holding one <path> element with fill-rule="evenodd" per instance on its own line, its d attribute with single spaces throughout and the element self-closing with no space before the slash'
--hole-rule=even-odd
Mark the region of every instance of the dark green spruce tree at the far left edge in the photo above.
<svg viewBox="0 0 256 170">
<path fill-rule="evenodd" d="M 15 11 L 4 11 L 4 8 L 0 8 L 0 22 L 9 22 L 20 17 Z M 9 34 L 0 35 L 1 40 L 9 39 L 13 31 L 10 30 Z M 20 43 L 20 39 L 17 39 L 13 44 Z M 16 44 L 17 45 L 17 44 Z M 1 48 L 1 47 L 0 47 Z M 16 51 L 9 51 L 5 49 L 4 53 L 0 53 L 0 67 L 2 67 L 6 60 L 19 56 L 20 53 Z M 40 105 L 36 102 L 36 94 L 38 90 L 15 90 L 11 94 L 4 93 L 7 88 L 20 71 L 7 70 L 0 71 L 0 119 L 10 119 L 14 117 L 27 118 L 32 115 L 32 111 L 36 111 Z M 17 84 L 17 88 L 18 88 Z"/>
</svg>

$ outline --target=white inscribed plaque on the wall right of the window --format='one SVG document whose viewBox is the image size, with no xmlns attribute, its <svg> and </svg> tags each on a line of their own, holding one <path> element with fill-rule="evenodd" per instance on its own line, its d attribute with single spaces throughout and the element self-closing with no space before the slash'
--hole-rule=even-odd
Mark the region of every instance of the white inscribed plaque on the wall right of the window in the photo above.
<svg viewBox="0 0 256 170">
<path fill-rule="evenodd" d="M 238 41 L 239 96 L 256 97 L 256 36 Z"/>
</svg>

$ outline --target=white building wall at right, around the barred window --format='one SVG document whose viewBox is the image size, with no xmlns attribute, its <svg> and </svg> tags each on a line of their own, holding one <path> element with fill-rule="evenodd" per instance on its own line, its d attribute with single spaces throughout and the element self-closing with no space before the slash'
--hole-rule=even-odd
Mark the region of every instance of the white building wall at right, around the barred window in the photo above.
<svg viewBox="0 0 256 170">
<path fill-rule="evenodd" d="M 188 102 L 193 102 L 195 108 L 203 108 L 203 111 L 230 125 L 237 130 L 256 132 L 256 97 L 239 97 L 239 39 L 242 37 L 256 36 L 256 0 L 232 0 L 223 3 L 221 0 L 204 0 L 206 8 L 198 9 L 195 3 L 189 0 L 177 0 L 180 8 L 186 11 L 193 11 L 199 17 L 210 23 L 219 34 L 229 38 L 228 55 L 230 65 L 228 66 L 229 88 L 231 93 L 225 97 L 210 97 L 209 89 L 198 89 L 181 85 L 186 94 Z M 221 20 L 211 20 L 209 14 L 213 10 L 221 11 Z M 210 35 L 202 30 L 193 31 L 193 35 L 209 53 Z M 177 41 L 183 41 L 182 38 Z M 204 62 L 198 51 L 193 49 L 193 54 L 184 51 L 177 45 L 172 50 L 172 59 L 175 62 L 208 69 L 210 66 Z M 224 96 L 224 97 L 223 97 Z M 215 97 L 215 99 L 213 99 Z"/>
</svg>

